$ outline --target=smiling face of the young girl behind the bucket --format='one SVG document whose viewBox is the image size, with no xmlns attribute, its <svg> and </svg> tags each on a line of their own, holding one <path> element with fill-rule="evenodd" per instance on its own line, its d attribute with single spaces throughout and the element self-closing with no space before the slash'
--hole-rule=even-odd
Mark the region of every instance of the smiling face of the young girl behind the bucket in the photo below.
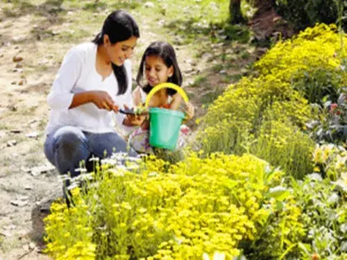
<svg viewBox="0 0 347 260">
<path fill-rule="evenodd" d="M 164 63 L 164 60 L 156 55 L 147 56 L 144 62 L 146 80 L 151 87 L 160 83 L 167 83 L 169 77 L 174 75 L 174 67 Z"/>
</svg>

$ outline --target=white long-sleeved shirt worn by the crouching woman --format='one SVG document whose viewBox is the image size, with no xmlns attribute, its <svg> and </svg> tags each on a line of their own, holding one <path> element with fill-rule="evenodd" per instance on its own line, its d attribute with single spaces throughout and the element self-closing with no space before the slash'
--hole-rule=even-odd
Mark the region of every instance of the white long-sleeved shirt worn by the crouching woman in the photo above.
<svg viewBox="0 0 347 260">
<path fill-rule="evenodd" d="M 87 42 L 74 46 L 65 55 L 47 98 L 51 114 L 46 134 L 65 125 L 94 133 L 115 132 L 115 122 L 118 126 L 122 125 L 123 114 L 101 110 L 94 103 L 85 103 L 69 109 L 74 94 L 91 90 L 108 92 L 119 108 L 124 108 L 124 104 L 128 107 L 133 105 L 130 60 L 124 63 L 128 88 L 126 93 L 117 96 L 118 83 L 115 74 L 112 72 L 102 80 L 102 76 L 96 72 L 96 51 L 97 45 Z"/>
</svg>

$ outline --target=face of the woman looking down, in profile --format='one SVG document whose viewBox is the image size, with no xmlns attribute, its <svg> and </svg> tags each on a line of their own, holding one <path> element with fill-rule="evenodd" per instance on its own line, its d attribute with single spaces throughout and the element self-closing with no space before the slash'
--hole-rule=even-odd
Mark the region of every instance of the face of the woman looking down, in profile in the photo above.
<svg viewBox="0 0 347 260">
<path fill-rule="evenodd" d="M 108 59 L 117 66 L 121 66 L 133 55 L 137 37 L 131 36 L 128 40 L 111 44 L 108 35 L 104 36 L 104 45 L 108 53 Z"/>
</svg>

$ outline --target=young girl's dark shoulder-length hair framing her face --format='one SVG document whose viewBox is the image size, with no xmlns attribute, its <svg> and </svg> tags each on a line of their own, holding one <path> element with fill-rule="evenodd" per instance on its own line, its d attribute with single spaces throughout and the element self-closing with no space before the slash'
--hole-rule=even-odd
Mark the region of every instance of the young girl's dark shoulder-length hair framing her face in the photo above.
<svg viewBox="0 0 347 260">
<path fill-rule="evenodd" d="M 138 85 L 142 86 L 141 81 L 144 76 L 144 62 L 146 62 L 146 57 L 148 56 L 158 56 L 162 58 L 165 65 L 169 67 L 174 67 L 174 75 L 169 78 L 169 82 L 174 83 L 178 86 L 182 85 L 182 73 L 180 73 L 180 68 L 178 67 L 178 62 L 176 58 L 176 53 L 171 44 L 167 42 L 152 42 L 144 51 L 142 55 L 141 63 L 139 64 L 139 71 L 137 73 L 136 82 Z M 153 87 L 147 84 L 142 87 L 144 92 L 149 93 Z M 172 96 L 176 94 L 176 90 L 167 88 L 167 94 Z"/>
</svg>

